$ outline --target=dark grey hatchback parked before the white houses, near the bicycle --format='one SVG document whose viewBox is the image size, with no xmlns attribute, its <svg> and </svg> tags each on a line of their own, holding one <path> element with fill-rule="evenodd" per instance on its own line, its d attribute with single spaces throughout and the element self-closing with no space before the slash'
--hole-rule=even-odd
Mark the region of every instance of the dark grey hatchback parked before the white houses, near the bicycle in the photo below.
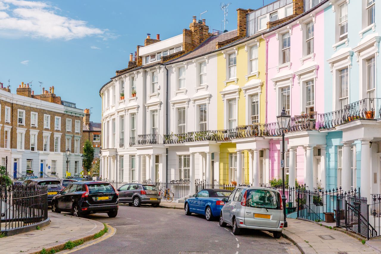
<svg viewBox="0 0 381 254">
<path fill-rule="evenodd" d="M 151 204 L 158 207 L 161 201 L 160 193 L 155 185 L 128 183 L 120 187 L 119 202 L 139 207 L 141 204 Z"/>
</svg>

